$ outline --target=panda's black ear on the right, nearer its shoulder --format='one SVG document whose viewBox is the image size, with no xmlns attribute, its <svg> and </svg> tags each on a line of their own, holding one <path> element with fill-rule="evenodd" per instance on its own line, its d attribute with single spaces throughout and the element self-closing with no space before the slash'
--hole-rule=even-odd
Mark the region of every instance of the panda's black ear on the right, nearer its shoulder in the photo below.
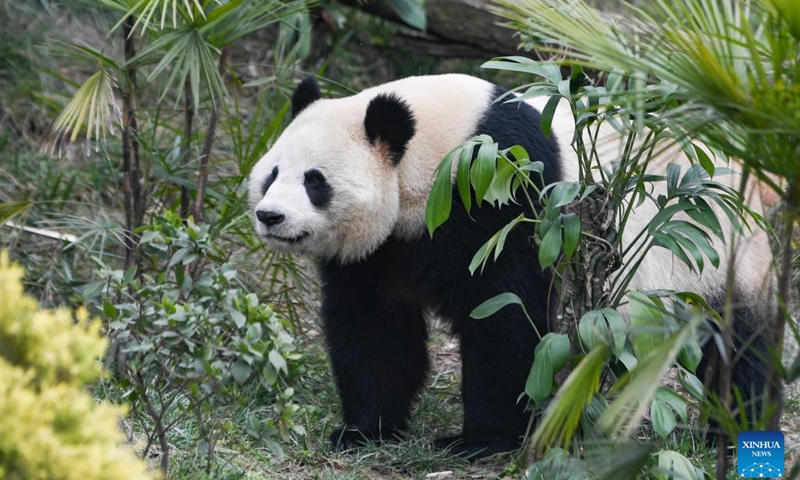
<svg viewBox="0 0 800 480">
<path fill-rule="evenodd" d="M 411 108 L 393 93 L 381 93 L 369 102 L 364 117 L 367 140 L 388 149 L 389 158 L 397 165 L 414 136 L 416 120 Z"/>
</svg>

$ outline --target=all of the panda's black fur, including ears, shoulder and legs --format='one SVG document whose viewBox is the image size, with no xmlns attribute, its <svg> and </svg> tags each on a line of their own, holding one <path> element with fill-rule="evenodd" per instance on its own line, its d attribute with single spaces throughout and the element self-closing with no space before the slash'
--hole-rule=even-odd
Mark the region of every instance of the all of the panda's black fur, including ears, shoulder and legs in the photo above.
<svg viewBox="0 0 800 480">
<path fill-rule="evenodd" d="M 504 93 L 494 87 L 492 96 Z M 319 98 L 316 82 L 304 80 L 293 96 L 293 112 L 310 112 Z M 386 149 L 395 166 L 404 161 L 417 133 L 414 115 L 413 106 L 391 93 L 377 94 L 364 111 L 366 140 Z M 528 103 L 490 103 L 471 133 L 490 135 L 500 148 L 523 146 L 544 163 L 545 183 L 564 178 L 556 135 L 544 135 L 540 114 Z M 261 183 L 255 179 L 254 185 L 269 187 L 274 176 Z M 333 203 L 338 194 L 335 187 L 329 192 Z M 462 358 L 463 431 L 437 445 L 472 458 L 520 445 L 530 413 L 526 402 L 518 399 L 537 334 L 519 308 L 504 308 L 482 320 L 469 314 L 488 298 L 514 292 L 544 334 L 551 330 L 555 310 L 552 278 L 539 267 L 533 230 L 525 225 L 508 235 L 503 254 L 482 274 L 470 275 L 467 266 L 487 239 L 521 213 L 523 207 L 512 203 L 500 209 L 473 208 L 470 216 L 454 194 L 450 218 L 433 238 L 420 228 L 416 235 L 389 235 L 356 261 L 319 258 L 323 329 L 344 417 L 344 424 L 330 436 L 334 445 L 349 448 L 366 440 L 397 438 L 407 428 L 430 367 L 429 315 L 448 322 L 460 340 Z M 703 293 L 724 298 L 722 291 Z M 740 337 L 755 339 L 755 348 L 748 351 L 764 352 L 763 339 L 753 328 L 763 324 L 764 315 L 746 304 L 736 315 Z M 712 347 L 713 342 L 707 345 Z M 763 390 L 763 362 L 757 357 L 748 354 L 734 376 L 746 394 Z"/>
</svg>

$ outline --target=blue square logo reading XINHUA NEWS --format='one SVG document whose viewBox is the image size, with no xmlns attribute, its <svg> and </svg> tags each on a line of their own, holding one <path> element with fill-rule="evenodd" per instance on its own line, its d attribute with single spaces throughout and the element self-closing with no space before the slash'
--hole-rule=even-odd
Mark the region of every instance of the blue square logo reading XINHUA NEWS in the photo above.
<svg viewBox="0 0 800 480">
<path fill-rule="evenodd" d="M 742 478 L 781 478 L 784 474 L 783 433 L 739 434 L 736 461 Z"/>
</svg>

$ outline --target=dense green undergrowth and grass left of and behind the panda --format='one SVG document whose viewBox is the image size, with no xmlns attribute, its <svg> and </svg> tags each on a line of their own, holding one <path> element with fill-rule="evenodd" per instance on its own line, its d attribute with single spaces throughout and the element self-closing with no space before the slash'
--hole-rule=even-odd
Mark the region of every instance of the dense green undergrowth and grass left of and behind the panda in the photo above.
<svg viewBox="0 0 800 480">
<path fill-rule="evenodd" d="M 405 23 L 347 4 L 0 1 L 0 248 L 41 305 L 103 319 L 110 374 L 92 392 L 130 404 L 128 443 L 167 478 L 523 476 L 510 455 L 476 465 L 433 450 L 461 424 L 458 349 L 438 328 L 409 440 L 327 445 L 338 400 L 313 266 L 260 248 L 245 195 L 293 82 L 317 74 L 347 95 L 416 74 L 525 81 L 481 69 L 490 52 L 425 54 L 414 2 L 392 2 Z M 787 444 L 798 417 L 791 391 Z M 637 436 L 714 470 L 688 425 Z"/>
</svg>

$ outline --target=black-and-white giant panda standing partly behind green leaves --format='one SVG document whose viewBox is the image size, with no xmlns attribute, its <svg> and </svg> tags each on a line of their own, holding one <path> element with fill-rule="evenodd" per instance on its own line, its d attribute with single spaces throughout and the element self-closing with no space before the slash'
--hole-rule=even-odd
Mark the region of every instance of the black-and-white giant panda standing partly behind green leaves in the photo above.
<svg viewBox="0 0 800 480">
<path fill-rule="evenodd" d="M 537 334 L 519 308 L 483 320 L 470 312 L 510 291 L 523 299 L 540 332 L 553 327 L 552 279 L 537 263 L 532 229 L 514 230 L 497 261 L 473 276 L 467 268 L 472 256 L 522 207 L 484 206 L 467 214 L 455 194 L 450 219 L 432 238 L 424 218 L 437 165 L 476 134 L 490 135 L 501 148 L 523 146 L 544 163 L 545 183 L 577 180 L 569 109 L 559 107 L 545 135 L 540 111 L 547 99 L 495 102 L 504 93 L 487 81 L 448 74 L 322 99 L 309 77 L 292 97 L 293 121 L 252 169 L 257 233 L 269 248 L 309 254 L 319 265 L 322 328 L 344 417 L 330 435 L 335 446 L 396 438 L 407 428 L 430 365 L 431 316 L 446 320 L 460 341 L 464 408 L 462 432 L 436 445 L 471 458 L 520 445 L 530 413 L 519 399 Z M 600 152 L 606 162 L 621 148 L 613 129 L 609 135 Z M 676 149 L 666 160 L 687 161 Z M 650 203 L 636 210 L 633 223 L 652 217 Z M 761 209 L 757 199 L 751 207 Z M 727 248 L 718 250 L 724 266 Z M 734 383 L 743 392 L 764 387 L 757 327 L 768 311 L 757 305 L 766 295 L 769 252 L 761 230 L 739 242 L 736 333 L 752 351 L 735 369 Z M 698 276 L 656 248 L 631 288 L 695 291 L 721 305 L 725 271 Z"/>
</svg>

